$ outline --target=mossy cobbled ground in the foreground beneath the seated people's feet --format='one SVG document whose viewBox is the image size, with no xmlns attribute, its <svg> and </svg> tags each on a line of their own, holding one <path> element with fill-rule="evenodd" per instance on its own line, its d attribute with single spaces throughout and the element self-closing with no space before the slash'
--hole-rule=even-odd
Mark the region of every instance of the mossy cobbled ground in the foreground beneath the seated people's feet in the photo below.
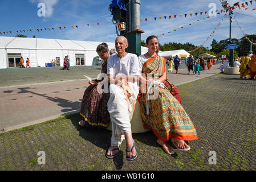
<svg viewBox="0 0 256 182">
<path fill-rule="evenodd" d="M 0 135 L 0 170 L 255 170 L 256 81 L 215 75 L 178 86 L 199 140 L 167 155 L 149 131 L 133 134 L 139 158 L 105 158 L 111 132 L 78 126 L 79 114 Z M 38 151 L 46 164 L 38 165 Z M 216 164 L 209 164 L 215 151 Z"/>
</svg>

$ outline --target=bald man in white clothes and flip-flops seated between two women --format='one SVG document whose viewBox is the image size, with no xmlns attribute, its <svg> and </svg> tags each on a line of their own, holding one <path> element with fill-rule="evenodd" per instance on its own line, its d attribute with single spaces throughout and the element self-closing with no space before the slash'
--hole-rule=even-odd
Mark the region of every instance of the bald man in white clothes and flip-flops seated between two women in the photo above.
<svg viewBox="0 0 256 182">
<path fill-rule="evenodd" d="M 129 98 L 129 106 L 123 90 L 120 88 L 120 80 L 127 80 L 133 88 L 136 100 L 139 94 L 137 78 L 140 76 L 139 60 L 135 54 L 127 53 L 128 41 L 124 36 L 118 36 L 115 40 L 117 55 L 108 59 L 107 74 L 110 81 L 108 111 L 112 122 L 111 146 L 106 154 L 107 158 L 115 158 L 123 140 L 126 141 L 127 160 L 135 160 L 137 152 L 132 138 L 129 110 L 131 110 L 132 97 Z"/>
</svg>

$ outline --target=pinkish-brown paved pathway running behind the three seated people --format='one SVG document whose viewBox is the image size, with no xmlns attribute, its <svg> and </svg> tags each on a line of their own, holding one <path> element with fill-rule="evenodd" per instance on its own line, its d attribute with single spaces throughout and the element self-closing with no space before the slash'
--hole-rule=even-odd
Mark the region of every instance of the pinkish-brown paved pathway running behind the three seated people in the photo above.
<svg viewBox="0 0 256 182">
<path fill-rule="evenodd" d="M 168 78 L 180 85 L 219 73 L 218 67 L 202 71 L 200 76 L 181 69 L 178 74 L 169 72 Z M 73 80 L 0 88 L 0 133 L 78 113 L 87 86 L 87 80 Z"/>
</svg>

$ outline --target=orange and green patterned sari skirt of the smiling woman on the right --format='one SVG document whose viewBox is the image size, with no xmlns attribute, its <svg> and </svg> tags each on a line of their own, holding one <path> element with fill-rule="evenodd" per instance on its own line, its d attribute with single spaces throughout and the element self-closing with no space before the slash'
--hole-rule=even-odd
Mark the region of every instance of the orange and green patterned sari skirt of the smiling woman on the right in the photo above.
<svg viewBox="0 0 256 182">
<path fill-rule="evenodd" d="M 166 87 L 152 89 L 158 89 L 159 97 L 149 100 L 149 115 L 147 115 L 147 95 L 144 93 L 140 96 L 144 129 L 153 130 L 156 137 L 164 141 L 172 137 L 181 140 L 198 139 L 196 128 L 189 115 L 169 90 Z"/>
</svg>

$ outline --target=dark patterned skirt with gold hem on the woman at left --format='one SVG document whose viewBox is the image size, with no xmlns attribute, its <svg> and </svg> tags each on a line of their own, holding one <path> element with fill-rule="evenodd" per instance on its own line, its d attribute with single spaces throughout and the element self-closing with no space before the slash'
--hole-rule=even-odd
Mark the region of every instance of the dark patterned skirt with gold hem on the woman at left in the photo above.
<svg viewBox="0 0 256 182">
<path fill-rule="evenodd" d="M 96 88 L 90 85 L 84 92 L 80 115 L 87 126 L 105 129 L 110 121 L 107 106 L 109 94 L 98 93 Z"/>
</svg>

